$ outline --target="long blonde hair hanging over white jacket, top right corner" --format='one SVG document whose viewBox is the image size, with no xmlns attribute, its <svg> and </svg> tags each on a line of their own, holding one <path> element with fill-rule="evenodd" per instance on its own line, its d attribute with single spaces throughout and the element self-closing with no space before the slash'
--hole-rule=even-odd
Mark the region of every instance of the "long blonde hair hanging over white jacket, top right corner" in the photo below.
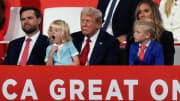
<svg viewBox="0 0 180 101">
<path fill-rule="evenodd" d="M 167 0 L 165 3 L 164 12 L 165 12 L 167 17 L 169 17 L 169 15 L 171 14 L 171 7 L 173 5 L 173 2 L 174 2 L 174 0 Z"/>
</svg>

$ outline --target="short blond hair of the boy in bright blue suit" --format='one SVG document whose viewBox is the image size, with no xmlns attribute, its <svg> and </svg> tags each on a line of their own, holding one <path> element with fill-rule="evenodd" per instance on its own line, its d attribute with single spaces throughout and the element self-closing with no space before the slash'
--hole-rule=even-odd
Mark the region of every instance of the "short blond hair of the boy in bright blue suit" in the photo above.
<svg viewBox="0 0 180 101">
<path fill-rule="evenodd" d="M 150 32 L 151 37 L 154 36 L 155 26 L 154 26 L 154 23 L 151 19 L 136 20 L 134 23 L 134 27 L 140 27 L 145 32 Z"/>
</svg>

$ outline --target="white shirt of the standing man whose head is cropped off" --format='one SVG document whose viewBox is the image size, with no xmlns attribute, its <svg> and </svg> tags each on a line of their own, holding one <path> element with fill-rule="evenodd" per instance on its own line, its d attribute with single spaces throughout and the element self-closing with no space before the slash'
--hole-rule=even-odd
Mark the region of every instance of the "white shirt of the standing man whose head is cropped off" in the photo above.
<svg viewBox="0 0 180 101">
<path fill-rule="evenodd" d="M 108 16 L 108 13 L 109 13 L 109 10 L 110 10 L 112 1 L 113 1 L 113 0 L 110 0 L 110 1 L 109 1 L 109 4 L 108 4 L 108 6 L 107 6 L 107 9 L 106 9 L 106 12 L 105 12 L 105 15 L 104 15 L 104 23 L 105 23 L 105 21 L 106 21 L 106 19 L 107 19 L 107 16 Z M 109 22 L 109 24 L 108 24 L 108 27 L 107 27 L 107 29 L 106 29 L 106 32 L 108 32 L 110 35 L 113 35 L 113 31 L 112 31 L 112 18 L 113 18 L 114 12 L 115 12 L 116 7 L 118 6 L 119 2 L 120 2 L 120 0 L 117 0 L 117 1 L 116 1 L 115 7 L 114 7 L 114 9 L 113 9 L 113 13 L 112 13 L 111 20 L 110 20 L 110 22 Z M 103 23 L 102 26 L 104 26 L 104 23 Z"/>
</svg>

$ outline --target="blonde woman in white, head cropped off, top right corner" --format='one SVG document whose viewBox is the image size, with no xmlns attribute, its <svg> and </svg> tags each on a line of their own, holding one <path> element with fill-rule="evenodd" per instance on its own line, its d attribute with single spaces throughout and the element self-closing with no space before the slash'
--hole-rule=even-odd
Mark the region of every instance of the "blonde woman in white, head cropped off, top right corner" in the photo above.
<svg viewBox="0 0 180 101">
<path fill-rule="evenodd" d="M 163 19 L 163 26 L 171 31 L 174 42 L 180 43 L 180 0 L 161 0 L 159 10 Z"/>
</svg>

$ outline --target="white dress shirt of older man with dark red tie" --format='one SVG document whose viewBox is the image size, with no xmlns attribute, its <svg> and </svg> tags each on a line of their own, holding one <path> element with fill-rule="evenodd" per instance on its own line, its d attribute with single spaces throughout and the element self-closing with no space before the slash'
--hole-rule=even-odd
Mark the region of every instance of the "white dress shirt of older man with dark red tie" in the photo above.
<svg viewBox="0 0 180 101">
<path fill-rule="evenodd" d="M 88 59 L 87 59 L 86 65 L 89 65 L 89 60 L 90 60 L 90 58 L 91 58 L 92 51 L 93 51 L 93 49 L 94 49 L 96 40 L 97 40 L 97 38 L 98 38 L 99 31 L 100 31 L 100 30 L 98 30 L 93 36 L 90 37 L 90 40 L 91 40 L 91 42 L 89 42 L 90 50 L 89 50 L 89 54 L 88 54 Z M 87 38 L 88 38 L 88 37 L 85 36 L 84 41 L 83 41 L 83 43 L 82 43 L 81 52 L 82 52 L 82 50 L 84 49 L 84 46 L 85 46 L 85 44 L 86 44 Z"/>
</svg>

